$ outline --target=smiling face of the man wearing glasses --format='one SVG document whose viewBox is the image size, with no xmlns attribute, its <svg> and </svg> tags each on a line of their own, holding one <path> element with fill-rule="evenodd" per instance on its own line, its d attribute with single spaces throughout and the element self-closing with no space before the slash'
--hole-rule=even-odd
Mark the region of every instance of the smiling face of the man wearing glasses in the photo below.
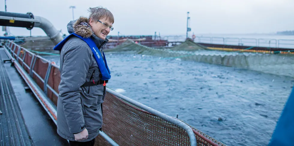
<svg viewBox="0 0 294 146">
<path fill-rule="evenodd" d="M 90 26 L 92 27 L 92 30 L 94 32 L 94 34 L 96 36 L 98 36 L 99 38 L 105 40 L 106 36 L 109 34 L 110 32 L 110 28 L 108 26 L 112 26 L 113 23 L 110 23 L 109 19 L 106 19 L 106 17 L 101 18 L 99 21 L 101 22 L 94 22 L 91 18 L 90 18 Z"/>
</svg>

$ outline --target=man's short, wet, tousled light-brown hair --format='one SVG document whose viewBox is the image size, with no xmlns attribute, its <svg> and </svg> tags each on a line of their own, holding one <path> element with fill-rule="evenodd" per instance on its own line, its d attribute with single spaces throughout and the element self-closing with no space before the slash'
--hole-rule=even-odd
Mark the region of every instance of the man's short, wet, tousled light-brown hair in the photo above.
<svg viewBox="0 0 294 146">
<path fill-rule="evenodd" d="M 109 19 L 110 23 L 114 23 L 114 17 L 113 14 L 107 10 L 107 8 L 103 7 L 95 7 L 95 8 L 89 8 L 88 12 L 90 13 L 89 15 L 89 20 L 92 18 L 95 22 L 97 22 L 99 19 L 106 17 Z"/>
</svg>

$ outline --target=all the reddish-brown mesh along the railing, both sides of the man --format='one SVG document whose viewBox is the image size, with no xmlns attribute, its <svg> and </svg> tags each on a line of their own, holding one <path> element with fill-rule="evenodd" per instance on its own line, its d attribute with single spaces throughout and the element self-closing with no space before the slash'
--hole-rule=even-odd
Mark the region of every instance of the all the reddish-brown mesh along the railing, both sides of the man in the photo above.
<svg viewBox="0 0 294 146">
<path fill-rule="evenodd" d="M 26 52 L 25 49 L 22 50 L 23 53 L 26 53 L 24 62 L 30 66 L 33 53 Z M 44 79 L 48 65 L 49 62 L 37 57 L 33 69 Z M 29 68 L 25 65 L 24 69 L 29 73 Z M 36 75 L 33 75 L 33 79 L 41 89 L 44 89 L 44 83 Z M 52 65 L 48 85 L 59 93 L 59 83 L 59 68 Z M 49 88 L 47 88 L 47 96 L 57 105 L 58 96 Z M 190 127 L 193 129 L 198 146 L 225 146 L 198 129 Z M 103 103 L 102 131 L 119 145 L 190 145 L 189 136 L 184 129 L 108 92 Z M 110 145 L 101 135 L 96 137 L 96 141 L 95 146 Z"/>
</svg>

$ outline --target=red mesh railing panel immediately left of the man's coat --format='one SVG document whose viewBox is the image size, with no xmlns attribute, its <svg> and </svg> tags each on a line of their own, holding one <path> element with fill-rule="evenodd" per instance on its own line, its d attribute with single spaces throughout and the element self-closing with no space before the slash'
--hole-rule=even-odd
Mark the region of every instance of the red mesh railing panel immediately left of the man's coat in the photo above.
<svg viewBox="0 0 294 146">
<path fill-rule="evenodd" d="M 53 90 L 55 90 L 55 92 L 59 93 L 59 91 L 58 91 L 59 83 L 60 83 L 60 71 L 59 71 L 59 68 L 52 65 L 47 84 Z M 47 88 L 47 96 L 57 106 L 57 98 L 58 98 L 58 96 L 56 96 L 49 88 Z"/>
</svg>

